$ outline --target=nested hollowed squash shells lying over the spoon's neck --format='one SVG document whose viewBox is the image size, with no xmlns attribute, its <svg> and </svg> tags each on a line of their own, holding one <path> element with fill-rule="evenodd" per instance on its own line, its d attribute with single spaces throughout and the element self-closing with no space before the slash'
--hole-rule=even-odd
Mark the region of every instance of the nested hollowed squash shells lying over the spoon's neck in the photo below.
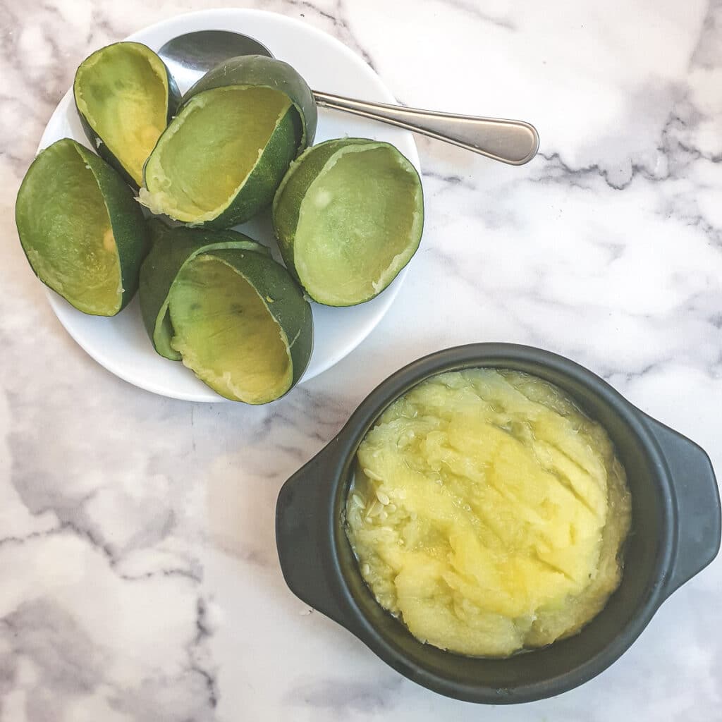
<svg viewBox="0 0 722 722">
<path fill-rule="evenodd" d="M 316 104 L 291 66 L 232 58 L 183 97 L 144 169 L 140 201 L 156 214 L 228 228 L 273 199 L 316 131 Z"/>
</svg>

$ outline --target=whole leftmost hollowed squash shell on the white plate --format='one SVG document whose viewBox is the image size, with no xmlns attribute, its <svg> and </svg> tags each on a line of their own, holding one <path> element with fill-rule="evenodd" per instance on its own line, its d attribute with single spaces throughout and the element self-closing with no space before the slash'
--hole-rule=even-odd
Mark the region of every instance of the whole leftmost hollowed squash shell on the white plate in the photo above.
<svg viewBox="0 0 722 722">
<path fill-rule="evenodd" d="M 64 138 L 38 154 L 17 194 L 20 243 L 35 275 L 83 313 L 115 316 L 147 252 L 142 210 L 104 160 Z"/>
</svg>

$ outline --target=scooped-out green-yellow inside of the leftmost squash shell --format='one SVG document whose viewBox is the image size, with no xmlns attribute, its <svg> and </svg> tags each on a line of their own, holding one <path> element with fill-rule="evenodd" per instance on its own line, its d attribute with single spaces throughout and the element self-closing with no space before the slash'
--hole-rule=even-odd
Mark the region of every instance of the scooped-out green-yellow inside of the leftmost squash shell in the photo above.
<svg viewBox="0 0 722 722">
<path fill-rule="evenodd" d="M 83 313 L 113 316 L 123 289 L 110 216 L 95 175 L 71 145 L 56 145 L 33 168 L 23 245 L 38 277 Z"/>
</svg>

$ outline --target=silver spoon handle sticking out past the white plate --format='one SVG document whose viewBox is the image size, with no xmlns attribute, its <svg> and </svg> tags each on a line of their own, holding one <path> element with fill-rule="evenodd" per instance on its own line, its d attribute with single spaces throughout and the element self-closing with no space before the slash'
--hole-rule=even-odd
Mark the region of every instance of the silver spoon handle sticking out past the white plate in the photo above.
<svg viewBox="0 0 722 722">
<path fill-rule="evenodd" d="M 369 103 L 317 90 L 313 91 L 313 97 L 318 105 L 326 108 L 390 123 L 510 165 L 529 162 L 539 149 L 536 128 L 524 121 L 459 116 L 435 110 L 406 108 L 403 105 Z"/>
</svg>

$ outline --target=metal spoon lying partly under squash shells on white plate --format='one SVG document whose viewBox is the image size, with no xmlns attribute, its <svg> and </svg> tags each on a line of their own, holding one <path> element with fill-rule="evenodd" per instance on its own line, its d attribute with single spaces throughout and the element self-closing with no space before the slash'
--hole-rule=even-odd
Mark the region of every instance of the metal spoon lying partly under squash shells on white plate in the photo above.
<svg viewBox="0 0 722 722">
<path fill-rule="evenodd" d="M 168 40 L 158 55 L 168 65 L 173 77 L 181 85 L 187 83 L 188 86 L 227 58 L 239 55 L 273 57 L 271 51 L 258 40 L 230 30 L 199 30 L 178 35 Z M 313 97 L 318 105 L 326 108 L 344 110 L 399 126 L 510 165 L 529 162 L 539 149 L 536 128 L 524 121 L 460 116 L 401 105 L 370 103 L 316 90 L 313 91 Z"/>
</svg>

